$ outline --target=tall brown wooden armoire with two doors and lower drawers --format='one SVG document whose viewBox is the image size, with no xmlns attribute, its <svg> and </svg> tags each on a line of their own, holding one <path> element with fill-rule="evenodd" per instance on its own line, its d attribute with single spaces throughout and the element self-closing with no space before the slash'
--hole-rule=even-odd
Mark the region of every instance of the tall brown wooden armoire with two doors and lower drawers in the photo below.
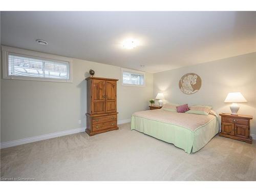
<svg viewBox="0 0 256 192">
<path fill-rule="evenodd" d="M 118 79 L 87 77 L 88 135 L 118 130 L 116 84 Z"/>
</svg>

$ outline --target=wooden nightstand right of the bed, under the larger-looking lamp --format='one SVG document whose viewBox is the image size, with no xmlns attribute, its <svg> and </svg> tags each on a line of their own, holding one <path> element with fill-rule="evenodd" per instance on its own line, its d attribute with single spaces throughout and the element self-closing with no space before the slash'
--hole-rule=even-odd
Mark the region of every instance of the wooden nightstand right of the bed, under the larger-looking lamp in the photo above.
<svg viewBox="0 0 256 192">
<path fill-rule="evenodd" d="M 221 113 L 220 136 L 252 143 L 250 136 L 250 115 L 230 115 Z"/>
</svg>

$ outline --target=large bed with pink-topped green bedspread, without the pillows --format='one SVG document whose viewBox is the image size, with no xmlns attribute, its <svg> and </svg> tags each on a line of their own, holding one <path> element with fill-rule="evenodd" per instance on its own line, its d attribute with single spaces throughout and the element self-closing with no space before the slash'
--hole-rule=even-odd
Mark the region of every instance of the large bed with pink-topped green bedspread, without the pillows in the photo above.
<svg viewBox="0 0 256 192">
<path fill-rule="evenodd" d="M 199 151 L 219 132 L 218 117 L 159 110 L 135 112 L 131 130 L 173 143 L 190 154 Z"/>
</svg>

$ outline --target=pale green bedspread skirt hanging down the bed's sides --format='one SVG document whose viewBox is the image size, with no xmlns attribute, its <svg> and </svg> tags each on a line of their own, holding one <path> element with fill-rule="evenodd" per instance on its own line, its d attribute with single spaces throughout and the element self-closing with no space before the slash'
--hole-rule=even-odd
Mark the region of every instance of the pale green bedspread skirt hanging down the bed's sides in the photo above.
<svg viewBox="0 0 256 192">
<path fill-rule="evenodd" d="M 162 141 L 173 143 L 190 154 L 199 151 L 212 137 L 218 134 L 219 123 L 218 118 L 215 117 L 196 131 L 191 131 L 174 124 L 132 116 L 131 130 L 137 130 Z"/>
</svg>

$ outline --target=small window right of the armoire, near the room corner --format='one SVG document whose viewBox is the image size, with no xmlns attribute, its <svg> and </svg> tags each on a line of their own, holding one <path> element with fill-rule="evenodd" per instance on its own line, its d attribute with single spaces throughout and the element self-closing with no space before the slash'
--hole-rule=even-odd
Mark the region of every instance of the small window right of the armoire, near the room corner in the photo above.
<svg viewBox="0 0 256 192">
<path fill-rule="evenodd" d="M 145 72 L 121 69 L 122 86 L 145 86 Z"/>
</svg>

